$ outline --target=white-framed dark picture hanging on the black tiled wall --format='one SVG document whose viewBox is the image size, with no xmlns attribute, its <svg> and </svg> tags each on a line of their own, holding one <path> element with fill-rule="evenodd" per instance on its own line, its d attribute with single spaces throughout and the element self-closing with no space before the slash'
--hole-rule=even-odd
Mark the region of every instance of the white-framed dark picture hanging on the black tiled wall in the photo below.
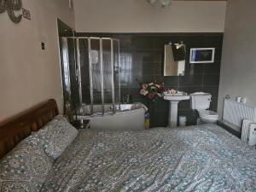
<svg viewBox="0 0 256 192">
<path fill-rule="evenodd" d="M 191 48 L 189 63 L 214 62 L 215 48 Z"/>
</svg>

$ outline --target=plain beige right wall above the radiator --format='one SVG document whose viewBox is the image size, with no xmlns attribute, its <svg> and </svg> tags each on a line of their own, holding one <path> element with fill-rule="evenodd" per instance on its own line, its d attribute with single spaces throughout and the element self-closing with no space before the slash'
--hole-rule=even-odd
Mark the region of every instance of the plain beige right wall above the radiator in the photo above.
<svg viewBox="0 0 256 192">
<path fill-rule="evenodd" d="M 256 1 L 230 0 L 225 21 L 218 113 L 226 94 L 256 107 Z"/>
</svg>

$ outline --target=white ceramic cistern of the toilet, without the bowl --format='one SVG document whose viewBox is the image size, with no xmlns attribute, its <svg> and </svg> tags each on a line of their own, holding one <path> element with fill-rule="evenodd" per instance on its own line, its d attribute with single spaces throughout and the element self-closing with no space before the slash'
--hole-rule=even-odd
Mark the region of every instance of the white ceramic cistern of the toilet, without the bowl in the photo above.
<svg viewBox="0 0 256 192">
<path fill-rule="evenodd" d="M 212 95 L 204 92 L 190 94 L 190 107 L 193 110 L 206 110 L 210 108 Z"/>
</svg>

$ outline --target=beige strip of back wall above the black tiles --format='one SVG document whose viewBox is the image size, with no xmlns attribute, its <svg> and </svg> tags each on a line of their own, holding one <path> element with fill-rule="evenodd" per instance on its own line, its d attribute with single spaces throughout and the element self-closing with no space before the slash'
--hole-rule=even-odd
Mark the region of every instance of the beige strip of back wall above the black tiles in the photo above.
<svg viewBox="0 0 256 192">
<path fill-rule="evenodd" d="M 225 2 L 173 2 L 166 9 L 147 0 L 74 0 L 78 32 L 224 32 Z"/>
</svg>

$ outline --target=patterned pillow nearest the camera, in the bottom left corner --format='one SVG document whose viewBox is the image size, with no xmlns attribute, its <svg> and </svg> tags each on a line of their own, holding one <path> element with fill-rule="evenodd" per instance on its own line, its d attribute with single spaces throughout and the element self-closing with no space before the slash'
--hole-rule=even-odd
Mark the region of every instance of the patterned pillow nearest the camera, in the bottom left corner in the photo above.
<svg viewBox="0 0 256 192">
<path fill-rule="evenodd" d="M 0 191 L 39 192 L 53 160 L 27 137 L 0 161 Z"/>
</svg>

